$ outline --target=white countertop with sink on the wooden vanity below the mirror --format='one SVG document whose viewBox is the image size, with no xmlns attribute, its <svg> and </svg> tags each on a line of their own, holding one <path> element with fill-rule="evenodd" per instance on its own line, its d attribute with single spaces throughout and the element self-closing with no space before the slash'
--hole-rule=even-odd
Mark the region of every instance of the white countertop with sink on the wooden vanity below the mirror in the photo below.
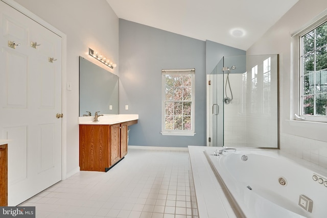
<svg viewBox="0 0 327 218">
<path fill-rule="evenodd" d="M 94 116 L 80 116 L 78 117 L 78 124 L 80 125 L 113 125 L 128 122 L 138 119 L 138 114 L 104 114 L 98 117 L 98 122 L 94 122 Z"/>
</svg>

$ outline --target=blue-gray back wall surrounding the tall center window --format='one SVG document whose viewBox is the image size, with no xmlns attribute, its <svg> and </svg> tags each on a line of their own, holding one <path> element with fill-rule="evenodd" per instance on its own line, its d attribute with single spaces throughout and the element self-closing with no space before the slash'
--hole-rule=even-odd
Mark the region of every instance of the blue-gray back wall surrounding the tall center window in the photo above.
<svg viewBox="0 0 327 218">
<path fill-rule="evenodd" d="M 120 113 L 139 115 L 138 124 L 130 127 L 129 145 L 205 146 L 206 49 L 210 55 L 235 55 L 241 51 L 215 42 L 206 46 L 201 40 L 119 20 Z M 214 66 L 218 61 L 215 56 L 210 62 L 216 62 L 211 64 Z M 195 136 L 160 134 L 161 69 L 174 68 L 196 70 Z M 125 110 L 125 105 L 129 105 L 129 110 Z"/>
</svg>

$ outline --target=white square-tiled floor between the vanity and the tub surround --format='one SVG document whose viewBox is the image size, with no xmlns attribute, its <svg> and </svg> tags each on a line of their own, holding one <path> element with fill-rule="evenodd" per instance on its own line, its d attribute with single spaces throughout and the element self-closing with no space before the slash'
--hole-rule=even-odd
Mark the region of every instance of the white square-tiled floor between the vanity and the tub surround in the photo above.
<svg viewBox="0 0 327 218">
<path fill-rule="evenodd" d="M 36 217 L 191 218 L 187 151 L 129 149 L 107 173 L 79 172 L 19 206 Z"/>
</svg>

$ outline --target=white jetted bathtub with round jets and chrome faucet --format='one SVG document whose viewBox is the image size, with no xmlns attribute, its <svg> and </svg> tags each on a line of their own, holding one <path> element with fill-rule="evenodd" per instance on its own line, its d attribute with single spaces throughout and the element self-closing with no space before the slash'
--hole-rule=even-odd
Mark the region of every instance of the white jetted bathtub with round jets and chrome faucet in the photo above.
<svg viewBox="0 0 327 218">
<path fill-rule="evenodd" d="M 211 149 L 205 155 L 243 217 L 327 217 L 325 169 L 279 150 Z"/>
</svg>

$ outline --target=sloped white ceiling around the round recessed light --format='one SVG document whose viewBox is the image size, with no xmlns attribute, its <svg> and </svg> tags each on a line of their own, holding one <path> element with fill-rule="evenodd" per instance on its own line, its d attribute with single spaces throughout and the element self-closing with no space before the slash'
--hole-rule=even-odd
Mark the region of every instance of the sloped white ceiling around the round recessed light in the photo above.
<svg viewBox="0 0 327 218">
<path fill-rule="evenodd" d="M 107 0 L 119 18 L 247 50 L 298 0 Z M 243 37 L 230 34 L 245 31 Z"/>
</svg>

